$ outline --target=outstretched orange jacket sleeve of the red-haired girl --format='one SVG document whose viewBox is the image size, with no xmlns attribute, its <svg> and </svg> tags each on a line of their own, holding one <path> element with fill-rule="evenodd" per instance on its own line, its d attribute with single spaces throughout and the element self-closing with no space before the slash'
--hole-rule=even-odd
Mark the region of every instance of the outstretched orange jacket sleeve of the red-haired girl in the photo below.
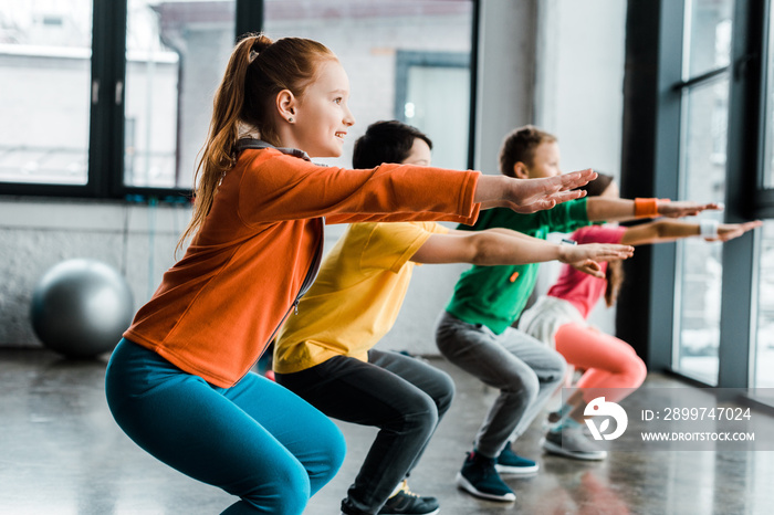
<svg viewBox="0 0 774 515">
<path fill-rule="evenodd" d="M 271 149 L 245 150 L 239 216 L 245 224 L 332 217 L 367 220 L 470 220 L 480 172 L 411 165 L 352 170 L 323 167 Z M 234 170 L 231 170 L 234 171 Z M 402 214 L 401 214 L 402 213 Z"/>
</svg>

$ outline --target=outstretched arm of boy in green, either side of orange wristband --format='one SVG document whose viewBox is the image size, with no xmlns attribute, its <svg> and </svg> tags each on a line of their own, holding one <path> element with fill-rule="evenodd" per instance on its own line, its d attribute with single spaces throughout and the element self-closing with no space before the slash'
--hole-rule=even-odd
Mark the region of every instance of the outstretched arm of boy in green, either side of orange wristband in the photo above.
<svg viewBox="0 0 774 515">
<path fill-rule="evenodd" d="M 698 203 L 688 200 L 670 202 L 657 199 L 650 199 L 655 202 L 652 216 L 682 218 L 699 214 L 700 212 L 710 210 L 722 210 L 722 206 L 715 202 Z M 588 220 L 593 222 L 602 221 L 626 221 L 638 218 L 636 202 L 630 199 L 614 199 L 605 197 L 594 197 L 586 201 L 586 212 Z"/>
</svg>

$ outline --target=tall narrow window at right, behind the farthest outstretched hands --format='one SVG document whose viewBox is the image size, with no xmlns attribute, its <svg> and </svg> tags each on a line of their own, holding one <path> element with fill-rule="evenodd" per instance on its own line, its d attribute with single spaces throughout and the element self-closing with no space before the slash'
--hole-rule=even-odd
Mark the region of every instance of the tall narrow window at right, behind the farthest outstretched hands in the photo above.
<svg viewBox="0 0 774 515">
<path fill-rule="evenodd" d="M 680 198 L 723 202 L 729 118 L 732 0 L 686 2 Z M 721 214 L 702 218 L 722 220 Z M 672 367 L 714 385 L 722 298 L 722 248 L 678 243 L 677 319 Z"/>
</svg>

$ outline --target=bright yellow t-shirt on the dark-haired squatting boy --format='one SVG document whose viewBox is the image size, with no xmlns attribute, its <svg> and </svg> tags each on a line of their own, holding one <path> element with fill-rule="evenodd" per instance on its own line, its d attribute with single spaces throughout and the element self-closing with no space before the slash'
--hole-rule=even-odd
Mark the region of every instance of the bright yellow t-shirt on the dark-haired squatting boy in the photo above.
<svg viewBox="0 0 774 515">
<path fill-rule="evenodd" d="M 393 327 L 415 263 L 435 222 L 353 223 L 325 256 L 320 274 L 274 343 L 274 370 L 292 374 L 334 356 L 366 361 Z"/>
</svg>

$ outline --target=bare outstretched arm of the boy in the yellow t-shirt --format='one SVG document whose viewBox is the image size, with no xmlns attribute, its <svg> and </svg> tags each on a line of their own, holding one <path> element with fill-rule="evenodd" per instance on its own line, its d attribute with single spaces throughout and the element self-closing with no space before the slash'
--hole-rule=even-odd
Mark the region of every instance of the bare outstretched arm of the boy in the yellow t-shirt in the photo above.
<svg viewBox="0 0 774 515">
<path fill-rule="evenodd" d="M 577 263 L 587 260 L 625 260 L 632 253 L 634 248 L 629 245 L 559 245 L 508 229 L 490 229 L 432 234 L 411 256 L 411 261 L 478 265 L 526 264 L 553 260 Z"/>
</svg>

